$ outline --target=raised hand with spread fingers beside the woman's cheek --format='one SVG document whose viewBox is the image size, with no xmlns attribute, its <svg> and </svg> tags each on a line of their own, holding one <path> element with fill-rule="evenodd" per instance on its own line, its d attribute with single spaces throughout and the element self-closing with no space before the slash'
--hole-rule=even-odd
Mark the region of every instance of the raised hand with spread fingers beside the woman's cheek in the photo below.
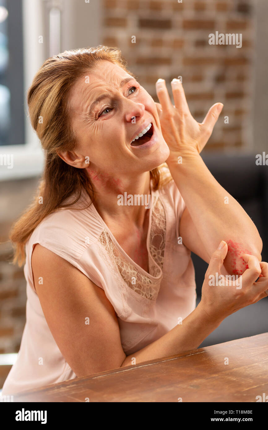
<svg viewBox="0 0 268 430">
<path fill-rule="evenodd" d="M 171 87 L 175 105 L 170 100 L 165 80 L 159 79 L 156 83 L 157 97 L 160 101 L 156 103 L 156 107 L 163 138 L 169 146 L 169 159 L 192 152 L 200 154 L 213 132 L 223 104 L 213 104 L 203 123 L 197 123 L 189 111 L 181 81 L 173 79 Z"/>
</svg>

